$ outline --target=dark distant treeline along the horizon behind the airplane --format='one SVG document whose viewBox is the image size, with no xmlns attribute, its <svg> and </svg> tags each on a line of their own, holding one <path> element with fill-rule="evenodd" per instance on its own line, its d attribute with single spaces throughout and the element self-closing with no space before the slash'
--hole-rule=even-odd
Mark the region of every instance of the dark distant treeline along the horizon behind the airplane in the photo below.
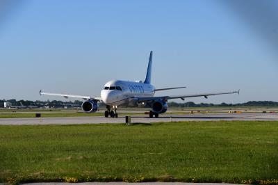
<svg viewBox="0 0 278 185">
<path fill-rule="evenodd" d="M 49 106 L 49 107 L 60 107 L 60 106 L 81 106 L 82 101 L 75 100 L 74 102 L 63 102 L 63 101 L 29 101 L 29 100 L 19 100 L 16 99 L 0 99 L 0 107 L 3 108 L 4 102 L 10 102 L 13 106 Z M 100 106 L 104 106 L 104 104 L 100 104 Z M 177 102 L 168 102 L 169 107 L 212 107 L 212 106 L 278 106 L 278 102 L 272 101 L 250 101 L 242 104 L 195 104 L 194 102 L 185 102 L 185 103 L 177 103 Z"/>
</svg>

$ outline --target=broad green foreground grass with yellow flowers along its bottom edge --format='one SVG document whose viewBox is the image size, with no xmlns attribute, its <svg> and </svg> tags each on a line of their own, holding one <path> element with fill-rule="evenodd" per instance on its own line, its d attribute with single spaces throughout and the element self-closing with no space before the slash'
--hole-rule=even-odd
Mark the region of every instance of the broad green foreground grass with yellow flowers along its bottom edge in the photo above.
<svg viewBox="0 0 278 185">
<path fill-rule="evenodd" d="M 277 133 L 243 121 L 0 126 L 0 182 L 278 184 Z"/>
</svg>

